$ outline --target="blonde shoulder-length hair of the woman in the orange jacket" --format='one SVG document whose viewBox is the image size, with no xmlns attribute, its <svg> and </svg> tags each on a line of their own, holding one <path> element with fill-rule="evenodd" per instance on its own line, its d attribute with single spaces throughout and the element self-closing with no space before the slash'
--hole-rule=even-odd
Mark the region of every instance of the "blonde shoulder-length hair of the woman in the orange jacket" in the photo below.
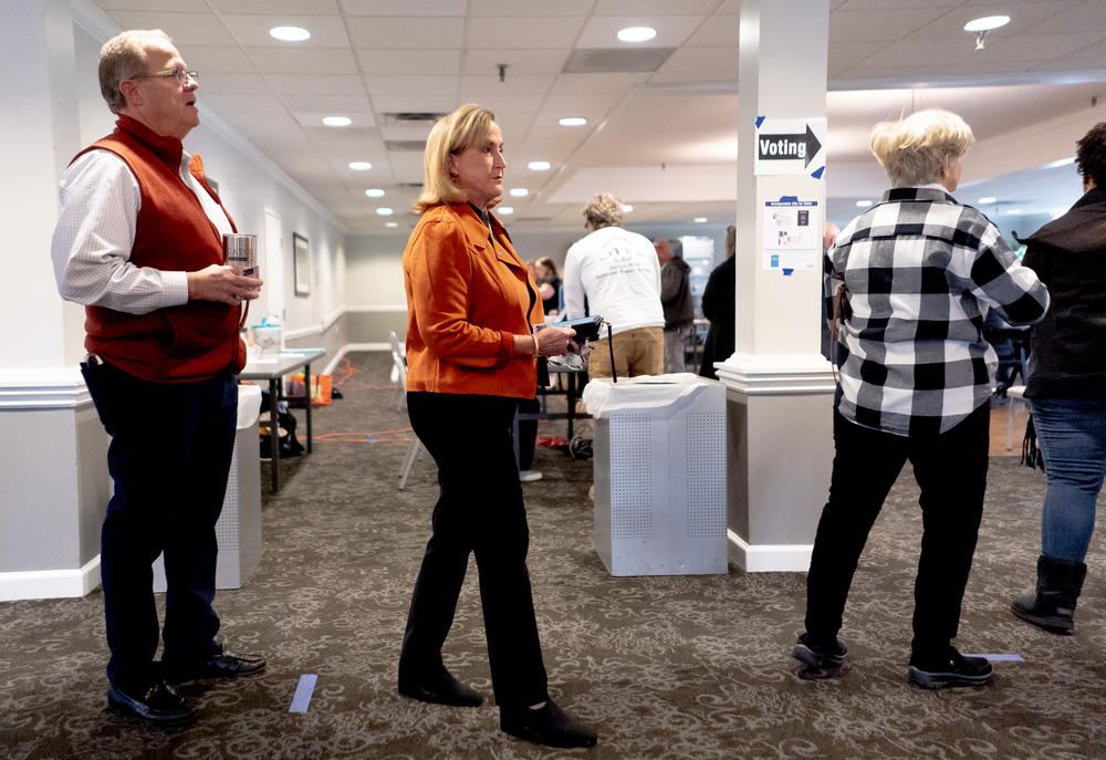
<svg viewBox="0 0 1106 760">
<path fill-rule="evenodd" d="M 430 129 L 422 156 L 422 191 L 415 199 L 419 214 L 431 206 L 463 204 L 469 191 L 449 176 L 449 157 L 458 156 L 488 137 L 488 129 L 495 114 L 476 103 L 466 103 L 448 116 L 442 116 Z M 492 208 L 502 196 L 488 201 Z"/>
</svg>

